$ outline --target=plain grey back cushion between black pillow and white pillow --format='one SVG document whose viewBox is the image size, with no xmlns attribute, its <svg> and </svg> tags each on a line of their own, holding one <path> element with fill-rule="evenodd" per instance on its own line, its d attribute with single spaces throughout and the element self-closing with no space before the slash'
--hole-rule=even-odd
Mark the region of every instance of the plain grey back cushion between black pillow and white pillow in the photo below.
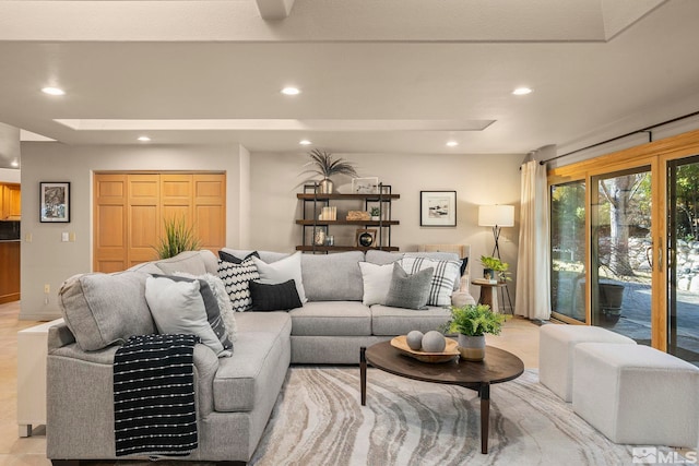
<svg viewBox="0 0 699 466">
<path fill-rule="evenodd" d="M 362 251 L 303 254 L 301 275 L 309 301 L 362 301 Z"/>
</svg>

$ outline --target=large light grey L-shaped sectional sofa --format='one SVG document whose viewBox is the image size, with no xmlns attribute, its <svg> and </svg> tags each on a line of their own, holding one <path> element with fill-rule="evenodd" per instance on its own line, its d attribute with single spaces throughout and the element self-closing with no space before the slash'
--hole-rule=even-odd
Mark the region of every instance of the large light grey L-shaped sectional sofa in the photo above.
<svg viewBox="0 0 699 466">
<path fill-rule="evenodd" d="M 225 250 L 245 258 L 250 251 Z M 455 259 L 445 253 L 422 253 Z M 289 254 L 259 252 L 274 263 Z M 289 363 L 357 363 L 359 347 L 411 330 L 435 330 L 447 308 L 408 310 L 363 304 L 359 262 L 389 264 L 403 254 L 352 251 L 301 255 L 308 302 L 291 311 L 237 312 L 233 356 L 194 347 L 199 445 L 181 459 L 245 464 L 260 441 Z M 117 274 L 84 274 L 60 291 L 66 323 L 50 328 L 47 360 L 47 456 L 54 464 L 116 459 L 112 362 L 131 335 L 155 333 L 145 300 L 150 274 L 217 274 L 211 251 L 138 265 Z M 467 279 L 462 280 L 467 284 Z M 454 289 L 454 303 L 474 302 Z M 123 458 L 123 457 L 120 457 Z"/>
</svg>

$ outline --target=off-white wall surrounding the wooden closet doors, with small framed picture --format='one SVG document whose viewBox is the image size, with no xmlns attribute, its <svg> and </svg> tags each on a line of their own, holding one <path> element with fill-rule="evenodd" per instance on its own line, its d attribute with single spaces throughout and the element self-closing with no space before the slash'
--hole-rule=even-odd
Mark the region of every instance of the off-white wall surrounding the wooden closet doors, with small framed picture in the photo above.
<svg viewBox="0 0 699 466">
<path fill-rule="evenodd" d="M 61 283 L 92 270 L 92 180 L 98 170 L 223 170 L 226 171 L 226 243 L 240 244 L 239 145 L 217 146 L 68 146 L 60 143 L 22 144 L 22 302 L 21 319 L 60 316 L 57 291 Z M 245 157 L 245 155 L 244 155 Z M 244 164 L 245 165 L 245 164 Z M 244 177 L 247 177 L 245 175 Z M 71 222 L 39 223 L 39 182 L 71 182 Z M 74 242 L 61 242 L 61 232 Z M 28 242 L 27 236 L 32 237 Z M 51 292 L 44 294 L 48 284 Z M 48 303 L 45 300 L 48 299 Z"/>
</svg>

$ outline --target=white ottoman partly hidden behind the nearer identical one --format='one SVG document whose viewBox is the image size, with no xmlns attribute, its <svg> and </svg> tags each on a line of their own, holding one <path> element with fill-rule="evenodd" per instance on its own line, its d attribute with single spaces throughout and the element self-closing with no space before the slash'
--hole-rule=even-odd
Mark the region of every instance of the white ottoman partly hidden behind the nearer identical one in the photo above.
<svg viewBox="0 0 699 466">
<path fill-rule="evenodd" d="M 572 402 L 572 350 L 579 343 L 626 343 L 631 338 L 588 325 L 542 325 L 538 332 L 538 380 L 565 402 Z"/>
</svg>

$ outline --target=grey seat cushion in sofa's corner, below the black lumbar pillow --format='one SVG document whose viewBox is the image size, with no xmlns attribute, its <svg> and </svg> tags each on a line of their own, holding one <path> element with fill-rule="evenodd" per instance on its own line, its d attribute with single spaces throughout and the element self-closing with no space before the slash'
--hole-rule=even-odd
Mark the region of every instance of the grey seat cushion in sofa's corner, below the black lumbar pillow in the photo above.
<svg viewBox="0 0 699 466">
<path fill-rule="evenodd" d="M 292 335 L 371 335 L 371 312 L 359 301 L 316 301 L 293 309 Z"/>
</svg>

